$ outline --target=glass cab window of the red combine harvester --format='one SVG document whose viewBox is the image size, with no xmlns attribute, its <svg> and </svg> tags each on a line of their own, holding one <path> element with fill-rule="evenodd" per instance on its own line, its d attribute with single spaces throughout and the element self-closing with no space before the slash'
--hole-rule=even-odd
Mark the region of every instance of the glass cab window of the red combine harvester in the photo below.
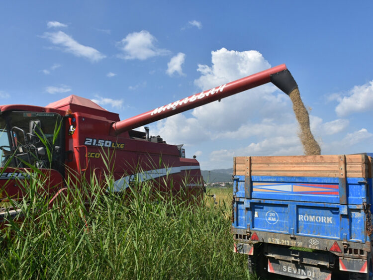
<svg viewBox="0 0 373 280">
<path fill-rule="evenodd" d="M 59 169 L 61 116 L 11 111 L 0 116 L 1 167 Z"/>
</svg>

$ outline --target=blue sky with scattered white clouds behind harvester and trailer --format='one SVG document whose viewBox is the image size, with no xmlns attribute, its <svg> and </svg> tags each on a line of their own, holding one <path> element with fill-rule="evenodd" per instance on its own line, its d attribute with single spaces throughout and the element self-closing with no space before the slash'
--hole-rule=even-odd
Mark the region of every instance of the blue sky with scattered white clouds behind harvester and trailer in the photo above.
<svg viewBox="0 0 373 280">
<path fill-rule="evenodd" d="M 372 1 L 0 1 L 0 103 L 70 94 L 121 119 L 285 63 L 322 154 L 373 152 Z M 140 128 L 142 129 L 142 128 Z M 302 155 L 271 85 L 150 125 L 202 169 Z"/>
</svg>

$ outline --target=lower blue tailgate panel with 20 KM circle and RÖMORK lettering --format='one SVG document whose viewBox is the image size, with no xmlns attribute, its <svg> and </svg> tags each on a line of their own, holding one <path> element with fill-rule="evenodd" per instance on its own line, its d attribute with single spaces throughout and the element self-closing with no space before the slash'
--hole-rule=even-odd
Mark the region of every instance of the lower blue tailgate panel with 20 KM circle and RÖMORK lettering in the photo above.
<svg viewBox="0 0 373 280">
<path fill-rule="evenodd" d="M 245 198 L 236 201 L 235 228 L 251 231 L 365 242 L 365 214 L 358 205 L 300 203 L 298 201 L 263 201 Z M 368 240 L 367 240 L 368 241 Z"/>
</svg>

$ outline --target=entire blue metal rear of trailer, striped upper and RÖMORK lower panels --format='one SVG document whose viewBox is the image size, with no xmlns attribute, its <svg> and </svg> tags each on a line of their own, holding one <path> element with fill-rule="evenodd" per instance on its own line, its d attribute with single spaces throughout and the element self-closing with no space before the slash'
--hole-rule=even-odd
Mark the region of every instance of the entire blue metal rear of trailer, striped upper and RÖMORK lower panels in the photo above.
<svg viewBox="0 0 373 280">
<path fill-rule="evenodd" d="M 346 205 L 340 204 L 339 178 L 252 176 L 251 181 L 252 198 L 247 199 L 245 176 L 234 177 L 234 228 L 262 231 L 266 236 L 370 241 L 363 203 L 372 203 L 372 179 L 347 178 Z"/>
</svg>

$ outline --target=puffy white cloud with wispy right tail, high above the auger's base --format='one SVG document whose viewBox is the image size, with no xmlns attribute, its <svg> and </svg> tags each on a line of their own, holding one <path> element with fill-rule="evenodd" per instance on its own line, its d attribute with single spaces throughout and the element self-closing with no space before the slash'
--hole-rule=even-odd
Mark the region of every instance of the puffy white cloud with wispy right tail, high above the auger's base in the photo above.
<svg viewBox="0 0 373 280">
<path fill-rule="evenodd" d="M 118 56 L 123 59 L 145 60 L 170 53 L 166 49 L 157 48 L 155 46 L 156 42 L 156 37 L 150 34 L 149 31 L 141 30 L 140 32 L 130 33 L 117 42 L 117 47 L 123 51 L 123 54 Z"/>
</svg>

